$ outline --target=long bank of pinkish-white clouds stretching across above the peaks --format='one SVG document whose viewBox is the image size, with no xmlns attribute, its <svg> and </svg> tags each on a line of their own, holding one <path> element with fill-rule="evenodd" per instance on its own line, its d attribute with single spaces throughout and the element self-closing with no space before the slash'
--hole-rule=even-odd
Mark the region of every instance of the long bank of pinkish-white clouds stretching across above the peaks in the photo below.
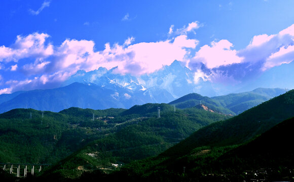
<svg viewBox="0 0 294 182">
<path fill-rule="evenodd" d="M 36 12 L 40 13 L 47 5 L 50 2 Z M 92 40 L 65 39 L 60 45 L 53 45 L 46 33 L 18 35 L 10 47 L 0 47 L 0 94 L 58 86 L 78 70 L 92 71 L 99 67 L 117 67 L 115 73 L 139 76 L 174 60 L 195 71 L 195 83 L 200 77 L 212 82 L 240 82 L 249 73 L 294 59 L 294 24 L 277 34 L 254 36 L 242 50 L 235 50 L 232 42 L 222 39 L 196 51 L 199 40 L 189 38 L 189 33 L 196 33 L 200 27 L 198 21 L 175 30 L 171 25 L 166 40 L 134 43 L 135 38 L 128 37 L 123 44 L 105 43 L 104 50 L 99 51 Z M 18 76 L 6 78 L 12 72 Z"/>
</svg>

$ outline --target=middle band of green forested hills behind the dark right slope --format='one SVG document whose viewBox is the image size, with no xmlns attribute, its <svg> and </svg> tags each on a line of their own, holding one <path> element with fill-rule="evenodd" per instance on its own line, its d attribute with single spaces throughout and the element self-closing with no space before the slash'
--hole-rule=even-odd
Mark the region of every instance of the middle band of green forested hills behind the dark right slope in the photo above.
<svg viewBox="0 0 294 182">
<path fill-rule="evenodd" d="M 112 163 L 156 156 L 201 127 L 230 117 L 197 108 L 174 112 L 168 104 L 129 110 L 69 108 L 43 116 L 33 109 L 0 115 L 0 161 L 56 164 L 52 174 L 77 177 L 97 168 L 114 169 Z"/>
</svg>

